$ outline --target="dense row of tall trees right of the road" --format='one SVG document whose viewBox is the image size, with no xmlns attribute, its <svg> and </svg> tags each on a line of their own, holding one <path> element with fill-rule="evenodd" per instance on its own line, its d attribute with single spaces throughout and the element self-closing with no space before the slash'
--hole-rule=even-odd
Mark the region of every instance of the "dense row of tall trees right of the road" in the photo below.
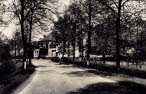
<svg viewBox="0 0 146 94">
<path fill-rule="evenodd" d="M 113 55 L 117 69 L 120 69 L 123 56 L 132 48 L 142 59 L 145 21 L 141 14 L 145 8 L 134 7 L 132 2 L 140 4 L 140 1 L 133 0 L 74 1 L 54 24 L 54 35 L 63 43 L 63 56 L 71 45 L 74 60 L 75 47 L 78 45 L 80 52 L 87 50 L 87 65 L 90 63 L 90 54 L 94 52 L 103 58 Z"/>
</svg>

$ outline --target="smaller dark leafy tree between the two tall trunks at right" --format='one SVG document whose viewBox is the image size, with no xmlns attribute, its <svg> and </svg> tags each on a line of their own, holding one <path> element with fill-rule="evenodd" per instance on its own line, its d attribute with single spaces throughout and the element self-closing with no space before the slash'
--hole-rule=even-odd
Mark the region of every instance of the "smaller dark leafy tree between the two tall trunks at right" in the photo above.
<svg viewBox="0 0 146 94">
<path fill-rule="evenodd" d="M 105 55 L 114 55 L 114 24 L 113 18 L 109 15 L 102 20 L 102 23 L 97 24 L 93 29 L 93 43 L 96 47 L 97 54 L 102 54 L 103 63 L 105 63 Z M 97 41 L 98 40 L 98 41 Z"/>
</svg>

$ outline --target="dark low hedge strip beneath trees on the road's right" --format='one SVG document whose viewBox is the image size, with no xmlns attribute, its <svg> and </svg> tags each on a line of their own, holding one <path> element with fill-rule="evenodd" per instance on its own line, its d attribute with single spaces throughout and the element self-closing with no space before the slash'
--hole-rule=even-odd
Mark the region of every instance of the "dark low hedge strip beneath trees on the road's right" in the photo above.
<svg viewBox="0 0 146 94">
<path fill-rule="evenodd" d="M 64 62 L 65 64 L 68 62 Z M 74 62 L 72 63 L 77 67 L 87 67 L 86 62 Z M 119 71 L 117 71 L 117 68 L 115 65 L 111 64 L 103 64 L 103 63 L 96 63 L 96 64 L 90 64 L 88 68 L 95 69 L 100 73 L 103 73 L 104 75 L 108 76 L 114 76 L 114 75 L 123 75 L 126 77 L 137 77 L 141 79 L 146 79 L 146 70 L 141 70 L 139 68 L 129 68 L 129 67 L 121 67 Z M 95 71 L 90 71 L 93 73 L 96 73 Z M 99 74 L 99 73 L 96 74 Z"/>
</svg>

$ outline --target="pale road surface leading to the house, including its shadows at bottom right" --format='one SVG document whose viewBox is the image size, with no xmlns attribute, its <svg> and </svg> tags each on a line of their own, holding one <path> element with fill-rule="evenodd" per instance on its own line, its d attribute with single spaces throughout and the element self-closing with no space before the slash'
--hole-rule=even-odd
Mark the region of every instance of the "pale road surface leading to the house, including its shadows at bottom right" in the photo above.
<svg viewBox="0 0 146 94">
<path fill-rule="evenodd" d="M 145 94 L 143 89 L 133 89 L 141 85 L 101 77 L 89 73 L 88 68 L 49 60 L 33 60 L 33 64 L 36 71 L 12 94 Z"/>
</svg>

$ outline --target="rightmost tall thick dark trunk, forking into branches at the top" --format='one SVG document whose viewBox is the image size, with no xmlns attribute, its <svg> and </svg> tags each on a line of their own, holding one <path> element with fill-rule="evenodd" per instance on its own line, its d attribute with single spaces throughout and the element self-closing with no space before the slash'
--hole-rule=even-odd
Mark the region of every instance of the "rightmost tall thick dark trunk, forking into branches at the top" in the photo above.
<svg viewBox="0 0 146 94">
<path fill-rule="evenodd" d="M 100 0 L 104 6 L 110 9 L 115 17 L 115 29 L 116 29 L 116 67 L 120 68 L 120 32 L 121 32 L 121 13 L 122 8 L 129 0 Z"/>
</svg>

